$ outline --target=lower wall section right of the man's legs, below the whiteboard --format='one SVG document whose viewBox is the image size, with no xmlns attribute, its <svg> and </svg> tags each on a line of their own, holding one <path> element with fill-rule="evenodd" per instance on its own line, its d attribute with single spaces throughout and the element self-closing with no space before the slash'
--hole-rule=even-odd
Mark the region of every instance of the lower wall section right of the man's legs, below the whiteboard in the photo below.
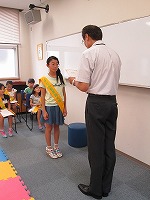
<svg viewBox="0 0 150 200">
<path fill-rule="evenodd" d="M 116 148 L 150 165 L 150 89 L 120 86 Z"/>
</svg>

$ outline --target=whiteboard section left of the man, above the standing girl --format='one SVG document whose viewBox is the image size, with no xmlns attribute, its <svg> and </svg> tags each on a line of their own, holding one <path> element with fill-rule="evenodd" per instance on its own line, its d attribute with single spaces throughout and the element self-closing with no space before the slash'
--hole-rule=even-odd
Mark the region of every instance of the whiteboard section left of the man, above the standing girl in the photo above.
<svg viewBox="0 0 150 200">
<path fill-rule="evenodd" d="M 46 45 L 47 57 L 52 55 L 58 57 L 61 72 L 66 77 L 65 69 L 78 69 L 82 52 L 85 49 L 81 33 L 50 40 Z"/>
</svg>

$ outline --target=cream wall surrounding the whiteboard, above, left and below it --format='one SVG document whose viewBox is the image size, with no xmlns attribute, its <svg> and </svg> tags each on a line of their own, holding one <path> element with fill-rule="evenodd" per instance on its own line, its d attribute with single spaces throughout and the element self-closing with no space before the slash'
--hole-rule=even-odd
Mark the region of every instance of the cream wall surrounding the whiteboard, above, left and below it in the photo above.
<svg viewBox="0 0 150 200">
<path fill-rule="evenodd" d="M 47 73 L 46 41 L 80 32 L 87 24 L 104 26 L 150 15 L 149 0 L 58 0 L 47 1 L 49 13 L 41 9 L 42 21 L 29 26 L 32 76 L 38 81 Z M 43 60 L 37 59 L 37 44 L 43 43 Z M 67 82 L 68 116 L 65 122 L 84 122 L 86 94 Z M 150 91 L 119 86 L 116 148 L 150 165 Z"/>
</svg>

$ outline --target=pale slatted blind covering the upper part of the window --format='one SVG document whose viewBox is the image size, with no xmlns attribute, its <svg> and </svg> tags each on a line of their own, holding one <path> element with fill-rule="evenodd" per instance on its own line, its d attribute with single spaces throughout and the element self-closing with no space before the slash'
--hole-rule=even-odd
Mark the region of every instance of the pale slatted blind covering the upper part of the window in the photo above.
<svg viewBox="0 0 150 200">
<path fill-rule="evenodd" d="M 19 10 L 0 7 L 0 43 L 20 43 Z"/>
</svg>

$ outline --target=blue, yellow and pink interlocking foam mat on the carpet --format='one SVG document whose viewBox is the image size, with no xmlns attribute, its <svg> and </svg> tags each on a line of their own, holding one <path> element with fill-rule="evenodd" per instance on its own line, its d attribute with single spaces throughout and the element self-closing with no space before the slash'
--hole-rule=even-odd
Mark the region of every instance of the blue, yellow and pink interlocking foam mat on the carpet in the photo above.
<svg viewBox="0 0 150 200">
<path fill-rule="evenodd" d="M 0 148 L 0 200 L 35 200 L 17 171 Z"/>
</svg>

